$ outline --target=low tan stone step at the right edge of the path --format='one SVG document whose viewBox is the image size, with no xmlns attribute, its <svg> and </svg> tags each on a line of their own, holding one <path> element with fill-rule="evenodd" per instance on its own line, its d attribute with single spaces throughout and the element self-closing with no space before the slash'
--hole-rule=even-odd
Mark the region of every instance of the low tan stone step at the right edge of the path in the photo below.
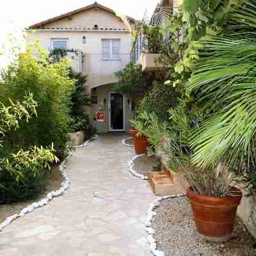
<svg viewBox="0 0 256 256">
<path fill-rule="evenodd" d="M 179 184 L 173 184 L 172 179 L 165 172 L 148 173 L 148 182 L 155 195 L 177 195 L 183 194 L 185 191 Z"/>
</svg>

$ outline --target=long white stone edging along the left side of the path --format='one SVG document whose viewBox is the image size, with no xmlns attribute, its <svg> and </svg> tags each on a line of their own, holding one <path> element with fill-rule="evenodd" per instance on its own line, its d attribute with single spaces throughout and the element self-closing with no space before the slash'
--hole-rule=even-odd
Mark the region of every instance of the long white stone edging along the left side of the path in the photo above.
<svg viewBox="0 0 256 256">
<path fill-rule="evenodd" d="M 83 147 L 86 147 L 92 140 L 95 140 L 95 138 L 97 138 L 97 136 L 93 137 L 92 139 L 86 141 L 83 144 Z M 82 145 L 80 145 L 82 146 Z M 79 147 L 79 146 L 78 146 Z M 43 198 L 42 200 L 40 200 L 39 202 L 35 202 L 27 207 L 25 207 L 24 209 L 22 209 L 20 211 L 19 214 L 14 214 L 8 218 L 6 218 L 6 220 L 4 220 L 2 223 L 0 223 L 0 232 L 8 225 L 10 225 L 12 223 L 12 221 L 24 217 L 26 214 L 33 212 L 35 209 L 39 208 L 39 207 L 43 207 L 44 205 L 47 205 L 49 203 L 49 201 L 51 201 L 54 197 L 63 195 L 63 193 L 70 188 L 70 179 L 68 178 L 67 173 L 65 172 L 66 170 L 66 163 L 68 161 L 68 159 L 72 156 L 72 153 L 68 154 L 68 156 L 63 160 L 63 162 L 60 164 L 59 169 L 61 172 L 61 175 L 63 177 L 63 181 L 61 182 L 61 188 L 55 191 L 52 191 L 50 193 L 48 193 L 46 195 L 45 198 Z"/>
</svg>

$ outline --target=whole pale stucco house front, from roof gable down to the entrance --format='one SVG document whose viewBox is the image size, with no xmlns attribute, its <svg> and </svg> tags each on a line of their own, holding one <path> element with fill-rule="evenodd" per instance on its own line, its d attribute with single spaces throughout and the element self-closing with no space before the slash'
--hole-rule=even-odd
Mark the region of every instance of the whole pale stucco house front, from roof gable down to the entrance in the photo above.
<svg viewBox="0 0 256 256">
<path fill-rule="evenodd" d="M 95 24 L 97 24 L 99 28 L 119 30 L 92 30 Z M 52 39 L 67 39 L 68 49 L 76 49 L 83 52 L 82 74 L 87 76 L 87 82 L 84 86 L 86 90 L 84 93 L 90 95 L 92 88 L 100 86 L 99 96 L 102 99 L 108 100 L 108 92 L 111 91 L 112 88 L 112 86 L 108 84 L 113 84 L 117 81 L 114 72 L 122 70 L 130 61 L 132 37 L 125 23 L 109 12 L 94 8 L 72 15 L 72 17 L 69 18 L 51 22 L 51 24 L 45 25 L 42 28 L 51 29 L 28 31 L 27 41 L 35 42 L 36 40 L 40 40 L 42 48 L 51 50 Z M 56 28 L 64 29 L 57 30 Z M 90 28 L 91 30 L 76 31 L 74 28 Z M 86 36 L 86 44 L 83 44 L 83 36 Z M 119 60 L 102 60 L 102 39 L 120 39 Z M 102 86 L 106 86 L 106 88 Z M 91 108 L 86 108 L 91 118 L 92 113 L 97 112 L 93 108 L 96 107 L 92 106 Z M 127 113 L 129 113 L 128 110 Z M 106 108 L 105 116 L 105 122 L 102 124 L 95 123 L 92 120 L 99 132 L 108 132 L 108 108 Z M 132 113 L 129 113 L 127 118 L 129 118 L 129 116 L 132 116 Z"/>
</svg>

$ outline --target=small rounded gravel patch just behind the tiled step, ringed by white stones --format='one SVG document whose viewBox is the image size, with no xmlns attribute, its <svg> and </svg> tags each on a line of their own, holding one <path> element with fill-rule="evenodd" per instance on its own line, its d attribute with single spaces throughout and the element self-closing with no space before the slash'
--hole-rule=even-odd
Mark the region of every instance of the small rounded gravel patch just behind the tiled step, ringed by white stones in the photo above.
<svg viewBox="0 0 256 256">
<path fill-rule="evenodd" d="M 133 170 L 147 175 L 148 172 L 160 171 L 161 160 L 156 156 L 143 155 L 134 160 Z"/>
</svg>

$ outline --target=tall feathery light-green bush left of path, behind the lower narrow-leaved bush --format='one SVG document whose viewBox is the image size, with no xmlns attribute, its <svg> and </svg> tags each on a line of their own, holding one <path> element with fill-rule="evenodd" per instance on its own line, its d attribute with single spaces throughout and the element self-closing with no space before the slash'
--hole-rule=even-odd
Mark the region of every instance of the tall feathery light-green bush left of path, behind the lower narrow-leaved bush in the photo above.
<svg viewBox="0 0 256 256">
<path fill-rule="evenodd" d="M 37 54 L 35 55 L 35 51 Z M 33 93 L 38 102 L 38 118 L 29 124 L 22 122 L 19 132 L 6 134 L 9 145 L 28 148 L 31 145 L 49 147 L 54 143 L 58 154 L 66 153 L 67 133 L 70 131 L 70 100 L 74 80 L 68 76 L 68 61 L 51 63 L 46 52 L 28 47 L 6 70 L 2 70 L 0 101 L 10 106 L 8 99 L 20 101 L 26 93 Z"/>
</svg>

